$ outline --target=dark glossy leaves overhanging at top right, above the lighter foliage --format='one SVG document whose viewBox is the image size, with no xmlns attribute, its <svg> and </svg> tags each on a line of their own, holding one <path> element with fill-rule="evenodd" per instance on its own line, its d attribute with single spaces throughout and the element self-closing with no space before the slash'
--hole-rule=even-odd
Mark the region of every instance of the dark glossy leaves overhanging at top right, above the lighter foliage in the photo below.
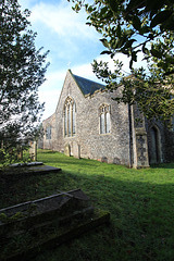
<svg viewBox="0 0 174 261">
<path fill-rule="evenodd" d="M 130 58 L 129 66 L 137 61 L 142 51 L 162 60 L 161 66 L 166 73 L 173 72 L 174 55 L 174 2 L 173 0 L 73 0 L 75 10 L 83 5 L 89 14 L 87 23 L 102 34 L 100 39 L 108 49 L 102 53 L 122 52 Z M 150 42 L 150 45 L 148 45 Z M 154 44 L 156 42 L 156 44 Z"/>
</svg>

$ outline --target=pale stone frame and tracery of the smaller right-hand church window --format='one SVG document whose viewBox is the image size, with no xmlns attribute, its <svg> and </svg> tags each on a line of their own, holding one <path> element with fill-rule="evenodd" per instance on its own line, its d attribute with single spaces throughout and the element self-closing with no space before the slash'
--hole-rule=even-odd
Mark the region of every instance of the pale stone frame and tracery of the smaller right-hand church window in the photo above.
<svg viewBox="0 0 174 261">
<path fill-rule="evenodd" d="M 104 126 L 103 126 L 103 130 L 101 129 L 101 115 L 104 115 Z M 109 120 L 107 117 L 107 115 L 109 114 Z M 99 134 L 100 135 L 110 135 L 111 134 L 111 105 L 110 104 L 105 104 L 102 103 L 99 107 Z M 109 130 L 108 130 L 109 127 Z"/>
</svg>

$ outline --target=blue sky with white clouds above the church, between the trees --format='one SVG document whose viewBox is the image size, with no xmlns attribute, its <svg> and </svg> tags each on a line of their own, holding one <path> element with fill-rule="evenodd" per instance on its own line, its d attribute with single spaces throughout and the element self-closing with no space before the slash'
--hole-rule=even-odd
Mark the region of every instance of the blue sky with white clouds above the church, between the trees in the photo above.
<svg viewBox="0 0 174 261">
<path fill-rule="evenodd" d="M 40 102 L 46 102 L 45 120 L 55 111 L 67 70 L 101 83 L 92 73 L 91 63 L 94 59 L 109 61 L 109 55 L 100 55 L 104 50 L 99 40 L 102 37 L 94 27 L 86 25 L 85 11 L 75 13 L 67 0 L 18 0 L 18 3 L 22 11 L 32 11 L 28 20 L 32 29 L 37 33 L 36 48 L 50 50 L 47 80 L 39 88 Z M 117 58 L 124 63 L 123 70 L 129 73 L 128 59 L 123 54 Z"/>
</svg>

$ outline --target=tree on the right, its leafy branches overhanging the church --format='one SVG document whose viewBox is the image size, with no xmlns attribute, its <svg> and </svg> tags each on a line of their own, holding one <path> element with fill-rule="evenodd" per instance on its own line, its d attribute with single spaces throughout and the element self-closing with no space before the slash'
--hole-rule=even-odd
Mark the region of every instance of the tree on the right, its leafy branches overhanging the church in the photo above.
<svg viewBox="0 0 174 261">
<path fill-rule="evenodd" d="M 174 3 L 173 0 L 72 0 L 74 10 L 83 7 L 88 13 L 88 25 L 102 35 L 100 41 L 114 60 L 116 53 L 129 59 L 134 77 L 122 78 L 122 63 L 115 62 L 111 72 L 108 63 L 95 61 L 94 72 L 108 84 L 109 89 L 122 86 L 116 100 L 138 103 L 148 119 L 170 120 L 174 114 Z M 148 72 L 134 70 L 138 53 L 148 61 Z"/>
</svg>

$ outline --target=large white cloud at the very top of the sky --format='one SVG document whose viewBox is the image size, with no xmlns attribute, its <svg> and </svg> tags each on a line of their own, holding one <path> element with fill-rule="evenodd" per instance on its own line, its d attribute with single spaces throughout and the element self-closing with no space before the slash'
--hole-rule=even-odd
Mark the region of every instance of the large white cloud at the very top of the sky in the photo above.
<svg viewBox="0 0 174 261">
<path fill-rule="evenodd" d="M 33 7 L 30 21 L 41 23 L 59 37 L 70 40 L 72 37 L 90 38 L 96 40 L 97 33 L 85 24 L 85 11 L 76 14 L 72 4 L 67 1 L 60 1 L 58 4 L 40 2 Z"/>
</svg>

